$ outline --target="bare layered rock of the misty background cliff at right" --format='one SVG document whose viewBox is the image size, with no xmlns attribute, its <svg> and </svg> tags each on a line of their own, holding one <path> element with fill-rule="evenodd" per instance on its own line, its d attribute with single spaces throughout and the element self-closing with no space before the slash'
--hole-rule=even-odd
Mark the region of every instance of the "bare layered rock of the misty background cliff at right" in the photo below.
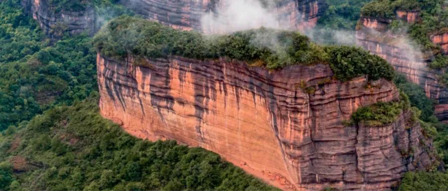
<svg viewBox="0 0 448 191">
<path fill-rule="evenodd" d="M 386 59 L 408 80 L 423 87 L 427 97 L 437 101 L 436 116 L 448 122 L 448 89 L 439 82 L 437 75 L 440 73 L 427 67 L 434 53 L 421 52 L 410 45 L 406 37 L 388 31 L 391 22 L 390 19 L 361 17 L 356 31 L 358 45 Z M 445 51 L 448 48 L 447 34 L 431 36 L 433 42 Z"/>
</svg>

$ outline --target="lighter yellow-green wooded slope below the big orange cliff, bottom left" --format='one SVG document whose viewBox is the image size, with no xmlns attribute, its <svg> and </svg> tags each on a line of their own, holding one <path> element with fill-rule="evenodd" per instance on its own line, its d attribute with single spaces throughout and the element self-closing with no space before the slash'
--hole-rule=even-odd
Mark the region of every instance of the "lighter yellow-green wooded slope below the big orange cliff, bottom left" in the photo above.
<svg viewBox="0 0 448 191">
<path fill-rule="evenodd" d="M 275 190 L 215 153 L 134 138 L 103 119 L 97 104 L 98 96 L 92 96 L 55 107 L 19 132 L 19 148 L 0 159 L 26 156 L 44 167 L 18 176 L 21 189 Z"/>
</svg>

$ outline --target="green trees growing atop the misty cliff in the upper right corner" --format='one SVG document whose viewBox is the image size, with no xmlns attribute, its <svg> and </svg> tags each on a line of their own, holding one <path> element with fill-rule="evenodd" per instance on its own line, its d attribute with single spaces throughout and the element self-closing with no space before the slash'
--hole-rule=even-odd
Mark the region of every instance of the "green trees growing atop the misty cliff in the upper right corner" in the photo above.
<svg viewBox="0 0 448 191">
<path fill-rule="evenodd" d="M 444 55 L 440 46 L 434 44 L 430 37 L 448 31 L 448 11 L 446 0 L 373 0 L 362 9 L 363 16 L 391 19 L 390 31 L 397 35 L 409 36 L 413 46 L 435 54 L 429 67 L 436 70 L 439 80 L 448 85 L 448 55 Z M 445 7 L 445 8 L 444 8 Z M 417 11 L 416 22 L 407 23 L 396 19 L 396 11 Z"/>
</svg>

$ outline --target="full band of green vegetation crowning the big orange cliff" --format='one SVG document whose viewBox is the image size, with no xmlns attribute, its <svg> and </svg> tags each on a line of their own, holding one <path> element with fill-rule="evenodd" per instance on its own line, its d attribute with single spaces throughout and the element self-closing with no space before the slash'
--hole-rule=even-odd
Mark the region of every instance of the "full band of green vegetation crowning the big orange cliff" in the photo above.
<svg viewBox="0 0 448 191">
<path fill-rule="evenodd" d="M 361 48 L 319 46 L 293 31 L 260 28 L 222 36 L 204 36 L 175 30 L 142 18 L 120 16 L 95 36 L 95 46 L 105 56 L 123 59 L 183 56 L 195 59 L 228 57 L 278 69 L 293 64 L 329 63 L 340 80 L 368 75 L 392 80 L 394 70 L 384 59 Z"/>
</svg>

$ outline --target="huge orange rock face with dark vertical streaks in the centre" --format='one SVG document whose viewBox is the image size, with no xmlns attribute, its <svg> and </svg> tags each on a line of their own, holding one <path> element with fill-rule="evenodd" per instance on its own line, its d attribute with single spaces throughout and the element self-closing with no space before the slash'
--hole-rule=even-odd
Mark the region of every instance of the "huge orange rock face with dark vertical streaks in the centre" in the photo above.
<svg viewBox="0 0 448 191">
<path fill-rule="evenodd" d="M 388 190 L 435 161 L 409 111 L 381 127 L 343 125 L 361 106 L 399 100 L 384 79 L 339 82 L 323 64 L 268 71 L 181 57 L 98 55 L 97 69 L 102 115 L 130 134 L 203 147 L 284 190 Z"/>
</svg>

